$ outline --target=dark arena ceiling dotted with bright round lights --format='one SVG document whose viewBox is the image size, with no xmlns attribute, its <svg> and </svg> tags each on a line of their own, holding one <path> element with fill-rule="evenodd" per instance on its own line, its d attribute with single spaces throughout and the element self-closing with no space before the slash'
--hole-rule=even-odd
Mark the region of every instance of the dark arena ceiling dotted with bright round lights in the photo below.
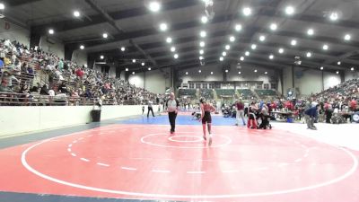
<svg viewBox="0 0 359 202">
<path fill-rule="evenodd" d="M 116 61 L 121 67 L 136 70 L 149 66 L 197 67 L 200 56 L 205 64 L 240 63 L 276 69 L 292 66 L 294 57 L 301 57 L 302 66 L 323 66 L 328 71 L 356 69 L 359 62 L 357 0 L 213 0 L 213 6 L 207 7 L 210 0 L 157 0 L 161 4 L 158 12 L 150 10 L 150 2 L 7 0 L 4 12 L 31 27 L 31 31 L 64 41 L 67 48 L 83 45 L 82 51 L 97 61 L 104 56 L 102 62 Z M 287 6 L 292 6 L 293 14 L 286 13 Z M 250 8 L 248 16 L 245 8 Z M 206 10 L 215 15 L 203 23 L 201 17 Z M 80 17 L 74 17 L 74 11 Z M 167 23 L 167 31 L 160 30 L 162 22 Z M 49 29 L 55 34 L 48 34 Z M 206 37 L 202 38 L 200 31 L 206 31 Z M 107 39 L 103 33 L 108 33 Z M 265 40 L 261 41 L 261 36 Z M 168 37 L 171 43 L 166 42 Z M 292 40 L 296 40 L 296 46 L 291 45 Z M 199 46 L 200 41 L 206 43 L 205 47 Z M 279 53 L 279 48 L 284 52 Z M 307 57 L 308 52 L 311 57 Z M 177 59 L 174 54 L 178 54 Z"/>
</svg>

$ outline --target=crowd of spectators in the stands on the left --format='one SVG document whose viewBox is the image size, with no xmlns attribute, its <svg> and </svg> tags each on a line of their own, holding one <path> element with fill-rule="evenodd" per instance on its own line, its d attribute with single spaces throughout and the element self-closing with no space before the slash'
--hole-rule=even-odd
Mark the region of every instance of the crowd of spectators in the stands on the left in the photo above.
<svg viewBox="0 0 359 202">
<path fill-rule="evenodd" d="M 47 75 L 42 76 L 46 79 L 34 84 L 34 76 L 40 73 Z M 40 47 L 28 48 L 10 40 L 0 41 L 0 74 L 2 105 L 6 104 L 6 98 L 9 96 L 12 97 L 12 101 L 16 101 L 12 105 L 39 101 L 39 96 L 46 98 L 42 100 L 47 102 L 46 105 L 51 105 L 51 101 L 66 105 L 93 101 L 114 105 L 143 104 L 147 101 L 154 102 L 162 96 L 123 80 L 111 78 L 108 74 L 87 66 L 78 66 L 72 61 L 45 52 Z M 22 79 L 18 75 L 30 76 Z"/>
</svg>

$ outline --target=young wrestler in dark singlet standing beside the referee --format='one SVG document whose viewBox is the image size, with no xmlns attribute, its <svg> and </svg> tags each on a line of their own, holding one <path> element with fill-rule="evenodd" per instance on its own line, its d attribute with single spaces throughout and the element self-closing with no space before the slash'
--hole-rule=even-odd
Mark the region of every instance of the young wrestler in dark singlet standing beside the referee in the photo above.
<svg viewBox="0 0 359 202">
<path fill-rule="evenodd" d="M 201 103 L 201 119 L 199 121 L 202 121 L 202 127 L 203 127 L 203 138 L 206 139 L 206 124 L 208 127 L 208 134 L 209 134 L 209 140 L 208 145 L 212 145 L 212 135 L 211 135 L 211 125 L 212 125 L 212 117 L 211 112 L 215 112 L 215 107 L 211 104 L 207 103 L 206 98 L 201 98 L 199 100 Z"/>
</svg>

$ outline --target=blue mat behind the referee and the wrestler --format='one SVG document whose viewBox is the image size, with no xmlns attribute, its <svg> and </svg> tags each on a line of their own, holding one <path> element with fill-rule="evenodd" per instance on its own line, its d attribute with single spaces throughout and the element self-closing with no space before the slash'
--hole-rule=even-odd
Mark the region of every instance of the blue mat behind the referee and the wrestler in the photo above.
<svg viewBox="0 0 359 202">
<path fill-rule="evenodd" d="M 143 116 L 138 119 L 127 119 L 122 120 L 119 123 L 121 124 L 151 124 L 151 125 L 169 125 L 170 121 L 167 115 L 149 117 Z M 212 124 L 214 126 L 233 126 L 235 124 L 235 119 L 233 118 L 223 118 L 219 116 L 212 116 Z M 191 116 L 179 115 L 176 119 L 176 125 L 201 125 L 201 122 L 198 120 L 192 120 Z"/>
</svg>

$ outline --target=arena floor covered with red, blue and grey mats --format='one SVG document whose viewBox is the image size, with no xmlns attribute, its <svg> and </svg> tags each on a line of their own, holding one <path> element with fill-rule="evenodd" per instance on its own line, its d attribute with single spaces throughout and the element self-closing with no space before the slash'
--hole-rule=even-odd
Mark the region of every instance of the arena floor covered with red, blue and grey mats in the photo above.
<svg viewBox="0 0 359 202">
<path fill-rule="evenodd" d="M 235 127 L 214 142 L 188 115 L 137 117 L 0 140 L 0 201 L 359 201 L 357 124 Z"/>
</svg>

